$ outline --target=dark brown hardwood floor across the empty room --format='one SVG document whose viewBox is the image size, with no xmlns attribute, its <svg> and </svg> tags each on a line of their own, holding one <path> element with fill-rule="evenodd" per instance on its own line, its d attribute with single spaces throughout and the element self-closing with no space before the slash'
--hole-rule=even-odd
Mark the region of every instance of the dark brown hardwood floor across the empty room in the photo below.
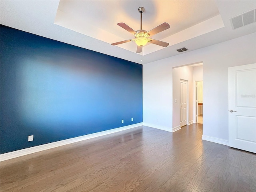
<svg viewBox="0 0 256 192">
<path fill-rule="evenodd" d="M 1 162 L 1 192 L 256 192 L 256 154 L 141 126 Z"/>
</svg>

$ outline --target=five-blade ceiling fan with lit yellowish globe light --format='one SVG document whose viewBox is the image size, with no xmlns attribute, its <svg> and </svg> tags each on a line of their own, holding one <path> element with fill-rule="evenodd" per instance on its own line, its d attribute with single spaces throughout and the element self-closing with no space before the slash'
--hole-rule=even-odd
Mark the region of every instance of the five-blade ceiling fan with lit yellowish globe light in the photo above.
<svg viewBox="0 0 256 192">
<path fill-rule="evenodd" d="M 124 28 L 125 30 L 133 34 L 135 39 L 124 40 L 124 41 L 112 43 L 111 45 L 118 45 L 118 44 L 134 41 L 137 44 L 136 53 L 142 52 L 142 47 L 145 46 L 147 43 L 152 43 L 152 44 L 160 45 L 162 47 L 167 47 L 169 43 L 152 39 L 151 36 L 170 28 L 170 25 L 168 23 L 163 23 L 157 26 L 156 28 L 150 30 L 149 32 L 147 32 L 146 30 L 142 29 L 142 13 L 145 11 L 145 9 L 144 7 L 139 7 L 138 11 L 140 13 L 140 30 L 134 31 L 125 23 L 118 23 L 120 27 Z"/>
</svg>

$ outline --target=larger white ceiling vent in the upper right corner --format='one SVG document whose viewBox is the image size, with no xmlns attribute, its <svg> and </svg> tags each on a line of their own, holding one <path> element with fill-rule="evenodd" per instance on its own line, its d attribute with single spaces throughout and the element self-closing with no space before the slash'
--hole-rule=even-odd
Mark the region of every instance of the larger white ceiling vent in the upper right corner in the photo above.
<svg viewBox="0 0 256 192">
<path fill-rule="evenodd" d="M 231 18 L 230 21 L 233 29 L 256 22 L 256 9 L 235 16 Z"/>
</svg>

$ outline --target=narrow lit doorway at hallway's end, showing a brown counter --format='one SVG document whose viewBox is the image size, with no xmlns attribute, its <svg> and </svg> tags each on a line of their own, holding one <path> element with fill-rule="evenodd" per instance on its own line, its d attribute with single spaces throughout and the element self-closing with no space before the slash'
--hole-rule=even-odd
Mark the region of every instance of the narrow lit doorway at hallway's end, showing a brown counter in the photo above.
<svg viewBox="0 0 256 192">
<path fill-rule="evenodd" d="M 196 81 L 196 123 L 203 124 L 203 81 Z"/>
</svg>

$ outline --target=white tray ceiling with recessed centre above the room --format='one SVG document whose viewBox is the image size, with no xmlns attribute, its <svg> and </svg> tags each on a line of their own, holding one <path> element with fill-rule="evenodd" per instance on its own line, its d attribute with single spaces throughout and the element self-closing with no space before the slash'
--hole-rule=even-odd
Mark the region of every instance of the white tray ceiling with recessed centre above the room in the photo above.
<svg viewBox="0 0 256 192">
<path fill-rule="evenodd" d="M 149 44 L 136 54 L 134 42 L 111 45 L 134 38 L 117 23 L 138 30 L 140 6 L 145 8 L 144 30 L 170 24 L 153 36 L 168 42 L 167 48 Z M 230 23 L 230 18 L 256 8 L 255 0 L 1 0 L 0 7 L 3 25 L 140 64 L 183 54 L 178 48 L 189 52 L 256 32 L 256 22 L 236 30 Z"/>
</svg>

